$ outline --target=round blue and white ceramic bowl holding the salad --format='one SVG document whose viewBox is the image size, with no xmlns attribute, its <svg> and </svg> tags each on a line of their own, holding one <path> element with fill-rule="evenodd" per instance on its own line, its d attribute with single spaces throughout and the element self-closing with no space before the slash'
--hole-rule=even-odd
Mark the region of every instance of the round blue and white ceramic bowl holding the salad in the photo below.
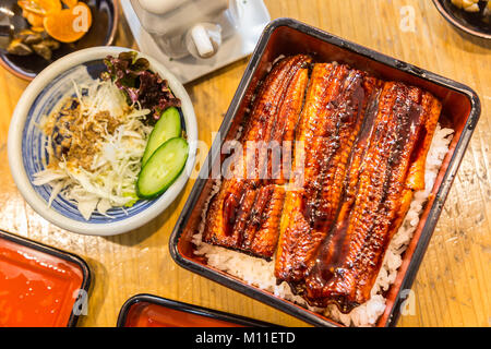
<svg viewBox="0 0 491 349">
<path fill-rule="evenodd" d="M 40 216 L 52 224 L 79 233 L 111 236 L 136 229 L 148 222 L 166 209 L 185 185 L 189 173 L 194 167 L 197 127 L 194 109 L 188 93 L 181 83 L 156 60 L 139 53 L 151 63 L 151 70 L 168 81 L 173 94 L 181 99 L 184 129 L 190 145 L 190 154 L 181 176 L 159 197 L 141 200 L 132 207 L 111 208 L 110 217 L 93 213 L 85 220 L 76 205 L 58 195 L 48 207 L 51 193 L 49 185 L 34 185 L 34 173 L 40 171 L 46 163 L 46 135 L 37 127 L 41 119 L 51 113 L 60 100 L 74 95 L 73 82 L 79 85 L 97 80 L 105 70 L 103 59 L 108 55 L 117 56 L 128 48 L 94 47 L 65 56 L 39 73 L 27 86 L 13 112 L 10 130 L 8 153 L 10 170 L 15 184 L 27 203 Z"/>
</svg>

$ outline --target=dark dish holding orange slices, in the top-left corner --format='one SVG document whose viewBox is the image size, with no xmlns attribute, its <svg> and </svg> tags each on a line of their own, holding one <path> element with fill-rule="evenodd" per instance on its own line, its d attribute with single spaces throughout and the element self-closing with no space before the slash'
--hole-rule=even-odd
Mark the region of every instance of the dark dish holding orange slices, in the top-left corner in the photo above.
<svg viewBox="0 0 491 349">
<path fill-rule="evenodd" d="M 0 65 L 12 74 L 31 81 L 46 67 L 68 53 L 88 47 L 111 45 L 115 40 L 119 20 L 118 1 L 84 0 L 84 2 L 91 8 L 93 20 L 91 28 L 80 40 L 61 44 L 59 49 L 53 50 L 52 58 L 49 61 L 37 55 L 15 56 L 0 49 Z M 7 0 L 5 5 L 16 14 L 22 13 L 16 0 Z"/>
</svg>

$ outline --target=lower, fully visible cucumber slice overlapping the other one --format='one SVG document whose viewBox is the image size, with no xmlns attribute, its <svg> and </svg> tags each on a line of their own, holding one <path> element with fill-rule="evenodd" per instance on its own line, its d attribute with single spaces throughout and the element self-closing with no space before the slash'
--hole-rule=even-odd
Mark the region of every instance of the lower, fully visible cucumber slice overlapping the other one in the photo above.
<svg viewBox="0 0 491 349">
<path fill-rule="evenodd" d="M 165 192 L 181 173 L 188 153 L 188 142 L 181 137 L 170 139 L 160 145 L 140 171 L 137 195 L 153 198 Z"/>
</svg>

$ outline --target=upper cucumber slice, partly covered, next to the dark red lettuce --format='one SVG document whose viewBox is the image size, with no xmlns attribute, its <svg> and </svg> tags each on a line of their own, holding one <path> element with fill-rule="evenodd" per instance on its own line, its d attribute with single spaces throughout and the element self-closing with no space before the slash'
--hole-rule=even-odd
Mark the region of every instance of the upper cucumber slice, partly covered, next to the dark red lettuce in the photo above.
<svg viewBox="0 0 491 349">
<path fill-rule="evenodd" d="M 151 158 L 152 154 L 166 141 L 179 137 L 181 135 L 181 116 L 175 107 L 167 108 L 163 113 L 160 119 L 152 130 L 148 136 L 148 142 L 146 143 L 145 153 L 142 157 L 142 167 L 145 166 L 146 161 Z"/>
</svg>

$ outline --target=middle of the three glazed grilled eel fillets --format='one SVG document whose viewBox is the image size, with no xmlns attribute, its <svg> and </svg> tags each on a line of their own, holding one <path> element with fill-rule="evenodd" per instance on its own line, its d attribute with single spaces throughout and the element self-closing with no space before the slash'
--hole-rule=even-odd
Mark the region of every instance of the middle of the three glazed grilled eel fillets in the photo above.
<svg viewBox="0 0 491 349">
<path fill-rule="evenodd" d="M 379 82 L 348 65 L 314 64 L 299 121 L 275 276 L 297 292 L 337 215 L 348 158 Z M 299 166 L 303 163 L 304 167 Z"/>
</svg>

